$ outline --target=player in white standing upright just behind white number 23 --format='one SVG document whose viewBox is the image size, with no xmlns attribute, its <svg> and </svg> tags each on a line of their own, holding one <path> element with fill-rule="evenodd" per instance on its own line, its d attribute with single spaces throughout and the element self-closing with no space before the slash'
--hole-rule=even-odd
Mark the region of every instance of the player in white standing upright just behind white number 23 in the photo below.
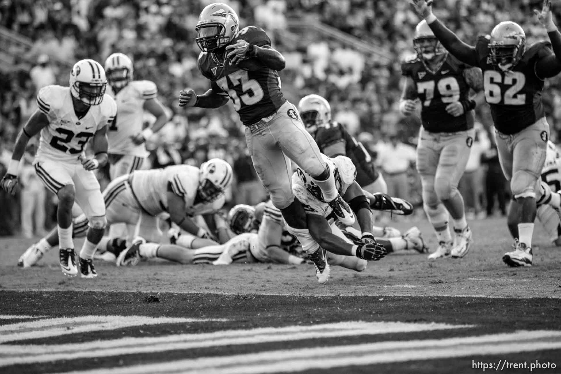
<svg viewBox="0 0 561 374">
<path fill-rule="evenodd" d="M 169 121 L 158 100 L 158 87 L 148 80 L 133 80 L 132 61 L 123 53 L 105 60 L 105 73 L 119 110 L 109 126 L 109 163 L 111 179 L 140 169 L 148 151 L 144 142 Z M 142 130 L 144 110 L 156 117 L 154 124 Z"/>
</svg>

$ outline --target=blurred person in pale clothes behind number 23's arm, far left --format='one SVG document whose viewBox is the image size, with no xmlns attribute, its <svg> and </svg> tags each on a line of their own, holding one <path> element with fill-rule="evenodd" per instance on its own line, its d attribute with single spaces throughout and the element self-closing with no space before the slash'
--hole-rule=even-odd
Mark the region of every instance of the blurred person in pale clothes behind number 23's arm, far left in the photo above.
<svg viewBox="0 0 561 374">
<path fill-rule="evenodd" d="M 35 141 L 33 141 L 35 140 Z M 36 138 L 27 145 L 21 162 L 21 234 L 24 238 L 42 237 L 45 231 L 45 198 L 47 191 L 35 173 L 33 159 L 37 149 Z M 33 224 L 35 223 L 35 229 Z"/>
</svg>

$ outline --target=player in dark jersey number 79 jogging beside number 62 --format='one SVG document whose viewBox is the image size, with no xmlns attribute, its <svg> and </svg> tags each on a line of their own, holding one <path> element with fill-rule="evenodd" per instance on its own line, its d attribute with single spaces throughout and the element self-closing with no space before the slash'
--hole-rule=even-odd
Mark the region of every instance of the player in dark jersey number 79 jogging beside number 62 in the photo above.
<svg viewBox="0 0 561 374">
<path fill-rule="evenodd" d="M 421 176 L 423 208 L 433 225 L 439 246 L 435 258 L 463 257 L 470 250 L 472 232 L 467 225 L 459 179 L 466 169 L 473 137 L 473 108 L 485 102 L 481 69 L 450 56 L 423 20 L 415 28 L 416 54 L 401 65 L 401 112 L 409 116 L 421 102 L 422 126 L 417 145 L 417 172 Z M 470 89 L 479 93 L 470 97 Z M 448 216 L 454 222 L 450 235 Z"/>
</svg>

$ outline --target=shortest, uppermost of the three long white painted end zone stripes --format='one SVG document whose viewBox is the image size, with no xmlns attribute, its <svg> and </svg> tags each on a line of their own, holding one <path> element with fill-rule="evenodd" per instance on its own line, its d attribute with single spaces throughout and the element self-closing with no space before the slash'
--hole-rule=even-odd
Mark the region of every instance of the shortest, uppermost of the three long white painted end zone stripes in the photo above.
<svg viewBox="0 0 561 374">
<path fill-rule="evenodd" d="M 0 343 L 6 341 L 48 338 L 49 336 L 115 330 L 122 327 L 227 321 L 220 318 L 168 318 L 145 316 L 80 316 L 48 318 L 0 326 Z"/>
</svg>

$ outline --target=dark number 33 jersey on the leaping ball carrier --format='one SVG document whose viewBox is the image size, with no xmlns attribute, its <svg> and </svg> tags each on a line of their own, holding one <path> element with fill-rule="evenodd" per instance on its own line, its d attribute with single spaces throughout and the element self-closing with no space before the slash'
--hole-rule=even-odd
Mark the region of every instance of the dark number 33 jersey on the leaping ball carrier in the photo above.
<svg viewBox="0 0 561 374">
<path fill-rule="evenodd" d="M 269 36 L 255 26 L 248 26 L 238 31 L 230 44 L 238 40 L 263 47 L 271 45 Z M 234 109 L 240 114 L 243 124 L 253 124 L 263 117 L 277 112 L 286 101 L 280 91 L 280 77 L 276 70 L 260 64 L 256 59 L 248 63 L 243 61 L 241 68 L 231 64 L 229 60 L 220 66 L 210 53 L 199 55 L 199 70 L 210 80 L 213 91 L 219 95 L 227 95 L 232 99 Z"/>
</svg>

